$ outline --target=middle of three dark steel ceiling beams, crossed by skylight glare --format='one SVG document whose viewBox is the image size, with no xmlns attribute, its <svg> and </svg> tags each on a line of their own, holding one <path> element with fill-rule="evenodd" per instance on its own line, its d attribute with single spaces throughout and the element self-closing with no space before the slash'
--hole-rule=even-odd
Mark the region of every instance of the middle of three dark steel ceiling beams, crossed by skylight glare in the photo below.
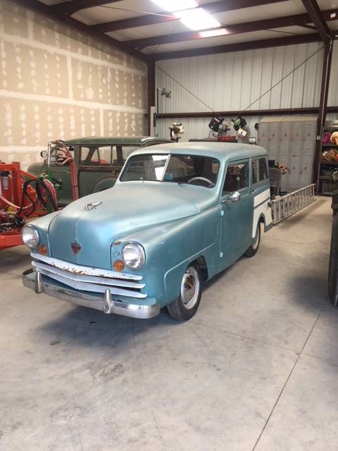
<svg viewBox="0 0 338 451">
<path fill-rule="evenodd" d="M 334 18 L 331 17 L 332 13 L 337 13 Z M 338 9 L 323 11 L 323 20 L 338 20 Z M 239 33 L 248 33 L 261 30 L 269 30 L 273 28 L 292 27 L 293 25 L 306 25 L 311 23 L 311 18 L 308 14 L 299 14 L 297 16 L 285 16 L 273 19 L 256 20 L 256 22 L 237 23 L 234 25 L 225 25 L 219 28 L 213 28 L 212 31 L 225 29 L 228 35 L 237 35 Z M 152 45 L 170 44 L 173 42 L 193 41 L 196 39 L 206 39 L 199 31 L 187 31 L 174 33 L 171 35 L 162 35 L 154 37 L 145 37 L 143 39 L 132 39 L 130 41 L 124 41 L 130 47 L 137 49 L 144 49 L 144 47 L 150 47 Z"/>
</svg>

